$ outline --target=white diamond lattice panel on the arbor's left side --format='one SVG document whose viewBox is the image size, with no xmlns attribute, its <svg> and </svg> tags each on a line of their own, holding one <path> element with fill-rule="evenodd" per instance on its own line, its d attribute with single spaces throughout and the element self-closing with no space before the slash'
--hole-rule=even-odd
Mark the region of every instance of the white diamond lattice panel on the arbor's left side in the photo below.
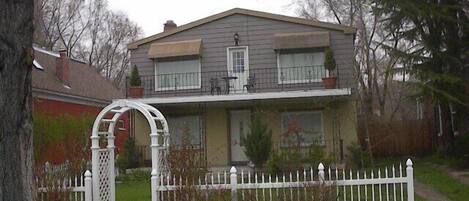
<svg viewBox="0 0 469 201">
<path fill-rule="evenodd" d="M 109 151 L 99 150 L 99 200 L 110 201 Z"/>
</svg>

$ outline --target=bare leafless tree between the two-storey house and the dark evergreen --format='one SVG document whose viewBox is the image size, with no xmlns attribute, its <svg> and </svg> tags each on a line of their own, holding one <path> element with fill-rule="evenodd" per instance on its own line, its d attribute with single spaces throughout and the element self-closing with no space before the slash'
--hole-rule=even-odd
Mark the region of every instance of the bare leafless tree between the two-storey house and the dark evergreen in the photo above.
<svg viewBox="0 0 469 201">
<path fill-rule="evenodd" d="M 399 59 L 389 54 L 389 47 L 407 48 L 400 44 L 397 33 L 387 32 L 380 28 L 383 16 L 373 12 L 371 0 L 296 0 L 298 14 L 315 20 L 339 23 L 357 28 L 355 37 L 354 75 L 358 82 L 358 95 L 361 112 L 363 114 L 367 149 L 373 158 L 370 143 L 368 123 L 376 117 L 374 111 L 379 111 L 381 117 L 393 118 L 395 110 L 390 115 L 387 101 L 391 98 L 390 83 L 394 81 Z M 401 96 L 392 96 L 399 98 Z M 400 100 L 396 100 L 399 103 Z M 377 109 L 374 107 L 378 106 Z M 388 119 L 390 120 L 390 119 Z"/>
</svg>

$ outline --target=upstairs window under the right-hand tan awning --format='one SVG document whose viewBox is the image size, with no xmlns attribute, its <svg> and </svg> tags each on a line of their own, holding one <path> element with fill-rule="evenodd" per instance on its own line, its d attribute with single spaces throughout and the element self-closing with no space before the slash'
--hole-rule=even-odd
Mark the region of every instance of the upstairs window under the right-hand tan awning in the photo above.
<svg viewBox="0 0 469 201">
<path fill-rule="evenodd" d="M 324 52 L 279 52 L 279 83 L 320 82 L 325 77 Z"/>
</svg>

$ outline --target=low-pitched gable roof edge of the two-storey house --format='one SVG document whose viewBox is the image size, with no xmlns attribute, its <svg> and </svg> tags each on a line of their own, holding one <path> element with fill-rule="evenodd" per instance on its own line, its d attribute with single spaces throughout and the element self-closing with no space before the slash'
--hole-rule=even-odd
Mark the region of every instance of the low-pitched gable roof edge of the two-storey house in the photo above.
<svg viewBox="0 0 469 201">
<path fill-rule="evenodd" d="M 254 16 L 254 17 L 260 17 L 260 18 L 267 18 L 267 19 L 272 19 L 272 20 L 278 20 L 278 21 L 284 21 L 284 22 L 290 22 L 290 23 L 295 23 L 295 24 L 302 24 L 302 25 L 307 25 L 307 26 L 313 26 L 313 27 L 319 27 L 319 28 L 325 28 L 329 30 L 336 30 L 336 31 L 343 31 L 344 33 L 355 33 L 356 29 L 354 27 L 350 26 L 344 26 L 340 24 L 333 24 L 333 23 L 328 23 L 328 22 L 320 22 L 320 21 L 315 21 L 315 20 L 308 20 L 304 18 L 299 18 L 299 17 L 290 17 L 286 15 L 278 15 L 278 14 L 273 14 L 273 13 L 267 13 L 267 12 L 261 12 L 261 11 L 255 11 L 255 10 L 248 10 L 248 9 L 243 9 L 243 8 L 233 8 L 231 10 L 227 10 L 225 12 L 221 12 L 215 15 L 208 16 L 206 18 L 202 18 L 200 20 L 196 20 L 193 22 L 190 22 L 188 24 L 184 24 L 181 26 L 178 26 L 172 30 L 161 32 L 146 38 L 142 38 L 140 40 L 134 41 L 130 44 L 127 45 L 128 49 L 136 49 L 139 45 L 145 44 L 152 42 L 154 40 L 164 38 L 166 36 L 170 36 L 176 33 L 179 33 L 181 31 L 191 29 L 224 17 L 228 17 L 234 14 L 242 14 L 242 15 L 249 15 L 249 16 Z"/>
</svg>

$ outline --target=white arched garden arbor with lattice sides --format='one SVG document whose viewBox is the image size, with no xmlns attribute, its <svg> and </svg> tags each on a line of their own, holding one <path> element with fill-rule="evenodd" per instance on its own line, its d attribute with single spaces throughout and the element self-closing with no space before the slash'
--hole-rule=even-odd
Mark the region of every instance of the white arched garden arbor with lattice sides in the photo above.
<svg viewBox="0 0 469 201">
<path fill-rule="evenodd" d="M 163 114 L 156 108 L 136 101 L 118 100 L 105 107 L 96 117 L 91 135 L 93 201 L 115 201 L 114 128 L 128 110 L 140 112 L 150 126 L 152 160 L 152 200 L 158 195 L 158 175 L 167 171 L 169 129 Z"/>
</svg>

